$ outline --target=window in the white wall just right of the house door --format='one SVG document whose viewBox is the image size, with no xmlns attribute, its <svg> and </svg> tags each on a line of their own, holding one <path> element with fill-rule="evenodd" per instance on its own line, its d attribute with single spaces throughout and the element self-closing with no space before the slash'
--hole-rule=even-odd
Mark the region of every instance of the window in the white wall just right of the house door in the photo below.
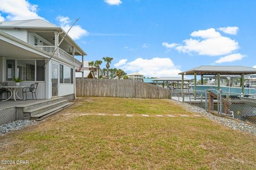
<svg viewBox="0 0 256 170">
<path fill-rule="evenodd" d="M 60 64 L 60 83 L 73 84 L 74 70 Z"/>
</svg>

